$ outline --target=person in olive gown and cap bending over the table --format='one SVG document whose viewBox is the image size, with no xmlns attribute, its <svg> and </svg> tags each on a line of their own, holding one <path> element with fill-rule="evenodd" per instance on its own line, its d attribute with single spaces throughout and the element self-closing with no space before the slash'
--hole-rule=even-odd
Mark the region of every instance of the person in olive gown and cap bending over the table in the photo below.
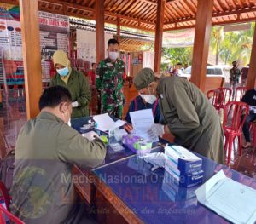
<svg viewBox="0 0 256 224">
<path fill-rule="evenodd" d="M 172 133 L 175 142 L 191 151 L 224 164 L 223 129 L 214 107 L 193 83 L 179 78 L 155 78 L 150 68 L 144 68 L 134 79 L 137 90 L 147 95 L 155 89 L 160 99 L 162 124 L 154 124 L 150 134 Z"/>
</svg>

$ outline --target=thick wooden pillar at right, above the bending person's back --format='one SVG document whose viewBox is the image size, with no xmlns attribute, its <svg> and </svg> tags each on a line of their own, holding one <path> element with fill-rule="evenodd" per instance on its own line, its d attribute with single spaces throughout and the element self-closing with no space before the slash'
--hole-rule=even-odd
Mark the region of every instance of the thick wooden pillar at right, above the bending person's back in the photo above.
<svg viewBox="0 0 256 224">
<path fill-rule="evenodd" d="M 212 27 L 213 0 L 198 0 L 191 82 L 205 90 L 207 60 Z"/>
</svg>

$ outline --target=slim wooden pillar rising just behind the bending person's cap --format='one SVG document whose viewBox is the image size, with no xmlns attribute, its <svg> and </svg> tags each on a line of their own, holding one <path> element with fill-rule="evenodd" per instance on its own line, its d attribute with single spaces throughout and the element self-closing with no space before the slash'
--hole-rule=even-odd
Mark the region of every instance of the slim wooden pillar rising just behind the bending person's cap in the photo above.
<svg viewBox="0 0 256 224">
<path fill-rule="evenodd" d="M 163 40 L 163 26 L 165 14 L 165 1 L 157 1 L 157 19 L 155 26 L 154 38 L 154 72 L 160 72 L 161 55 L 162 55 L 162 40 Z"/>
</svg>

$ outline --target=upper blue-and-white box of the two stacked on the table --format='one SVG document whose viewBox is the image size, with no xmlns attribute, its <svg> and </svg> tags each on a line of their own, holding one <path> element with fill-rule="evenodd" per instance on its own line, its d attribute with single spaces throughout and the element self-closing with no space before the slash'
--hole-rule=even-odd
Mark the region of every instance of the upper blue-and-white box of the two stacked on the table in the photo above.
<svg viewBox="0 0 256 224">
<path fill-rule="evenodd" d="M 202 160 L 182 146 L 166 146 L 165 153 L 167 160 L 173 164 L 183 175 L 189 175 L 201 171 Z"/>
</svg>

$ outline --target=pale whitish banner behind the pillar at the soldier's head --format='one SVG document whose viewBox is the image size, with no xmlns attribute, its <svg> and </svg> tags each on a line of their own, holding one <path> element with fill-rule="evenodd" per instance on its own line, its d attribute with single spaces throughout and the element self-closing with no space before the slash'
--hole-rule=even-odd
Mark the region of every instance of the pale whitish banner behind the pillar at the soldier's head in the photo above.
<svg viewBox="0 0 256 224">
<path fill-rule="evenodd" d="M 105 58 L 108 57 L 108 40 L 113 34 L 105 33 Z M 96 62 L 96 32 L 77 29 L 78 58 L 90 63 Z"/>
</svg>

